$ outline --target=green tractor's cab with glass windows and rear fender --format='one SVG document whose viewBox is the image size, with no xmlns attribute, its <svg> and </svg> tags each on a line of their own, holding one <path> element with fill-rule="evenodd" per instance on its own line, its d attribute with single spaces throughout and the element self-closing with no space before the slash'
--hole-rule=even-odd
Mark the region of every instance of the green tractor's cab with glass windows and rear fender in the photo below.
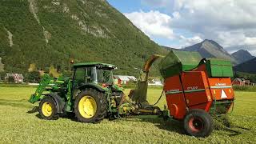
<svg viewBox="0 0 256 144">
<path fill-rule="evenodd" d="M 94 89 L 109 93 L 117 100 L 116 103 L 119 103 L 123 93 L 121 87 L 114 85 L 114 69 L 116 66 L 100 62 L 74 64 L 74 74 L 70 82 L 72 97 L 79 91 Z"/>
</svg>

